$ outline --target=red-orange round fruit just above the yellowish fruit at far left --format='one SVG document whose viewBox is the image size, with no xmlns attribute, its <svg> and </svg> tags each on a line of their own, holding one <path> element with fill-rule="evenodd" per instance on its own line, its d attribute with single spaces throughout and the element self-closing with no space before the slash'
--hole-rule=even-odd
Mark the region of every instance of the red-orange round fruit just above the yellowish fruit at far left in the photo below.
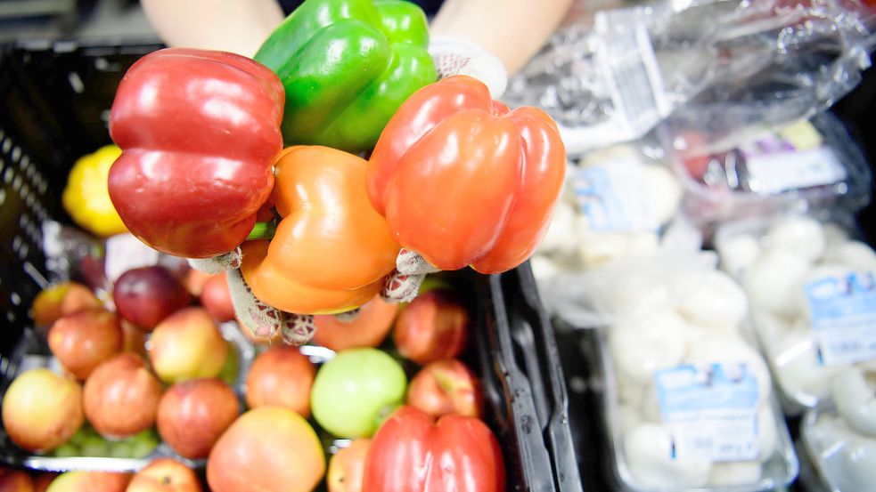
<svg viewBox="0 0 876 492">
<path fill-rule="evenodd" d="M 89 308 L 55 321 L 48 335 L 49 349 L 79 380 L 94 367 L 121 351 L 119 317 L 102 308 Z"/>
</svg>

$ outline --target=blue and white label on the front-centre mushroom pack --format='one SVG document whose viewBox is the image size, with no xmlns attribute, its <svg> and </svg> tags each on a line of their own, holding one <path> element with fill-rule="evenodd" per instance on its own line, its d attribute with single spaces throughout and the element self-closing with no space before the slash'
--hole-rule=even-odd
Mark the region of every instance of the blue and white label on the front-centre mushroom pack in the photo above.
<svg viewBox="0 0 876 492">
<path fill-rule="evenodd" d="M 672 458 L 757 459 L 757 379 L 745 364 L 684 365 L 654 373 Z"/>
</svg>

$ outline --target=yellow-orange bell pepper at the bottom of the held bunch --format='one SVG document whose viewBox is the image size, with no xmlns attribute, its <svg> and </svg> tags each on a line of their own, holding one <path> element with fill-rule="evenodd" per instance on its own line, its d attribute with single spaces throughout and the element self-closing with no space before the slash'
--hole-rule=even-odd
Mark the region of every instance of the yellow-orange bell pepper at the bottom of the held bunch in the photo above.
<svg viewBox="0 0 876 492">
<path fill-rule="evenodd" d="M 281 311 L 349 311 L 378 294 L 398 245 L 365 194 L 364 159 L 328 147 L 285 149 L 271 201 L 274 238 L 242 246 L 252 293 Z"/>
</svg>

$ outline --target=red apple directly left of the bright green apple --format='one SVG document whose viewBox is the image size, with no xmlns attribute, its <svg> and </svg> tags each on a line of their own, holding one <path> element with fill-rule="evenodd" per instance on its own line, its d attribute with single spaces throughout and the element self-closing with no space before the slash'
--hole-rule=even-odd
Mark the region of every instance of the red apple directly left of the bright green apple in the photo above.
<svg viewBox="0 0 876 492">
<path fill-rule="evenodd" d="M 279 345 L 258 355 L 246 378 L 250 408 L 275 405 L 310 415 L 310 388 L 316 368 L 296 347 Z"/>
</svg>

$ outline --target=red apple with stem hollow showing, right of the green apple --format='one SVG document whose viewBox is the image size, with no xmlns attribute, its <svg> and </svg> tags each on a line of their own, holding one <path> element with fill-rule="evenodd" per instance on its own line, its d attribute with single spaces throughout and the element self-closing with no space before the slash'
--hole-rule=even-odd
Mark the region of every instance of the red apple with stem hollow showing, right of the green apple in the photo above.
<svg viewBox="0 0 876 492">
<path fill-rule="evenodd" d="M 430 362 L 413 376 L 407 404 L 436 418 L 442 415 L 480 417 L 483 399 L 478 378 L 456 359 Z"/>
</svg>

